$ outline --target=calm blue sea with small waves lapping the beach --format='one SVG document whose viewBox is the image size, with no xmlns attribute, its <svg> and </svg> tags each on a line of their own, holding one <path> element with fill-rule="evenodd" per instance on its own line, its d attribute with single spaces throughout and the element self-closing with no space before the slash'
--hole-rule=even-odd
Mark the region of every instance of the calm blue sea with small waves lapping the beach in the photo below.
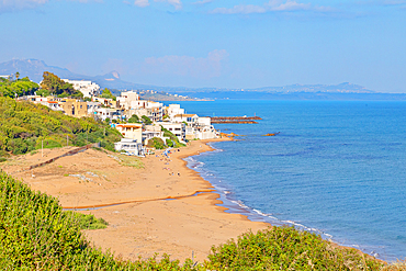
<svg viewBox="0 0 406 271">
<path fill-rule="evenodd" d="M 406 102 L 173 103 L 200 116 L 262 117 L 214 124 L 238 140 L 187 158 L 227 212 L 295 226 L 390 262 L 406 258 Z"/>
</svg>

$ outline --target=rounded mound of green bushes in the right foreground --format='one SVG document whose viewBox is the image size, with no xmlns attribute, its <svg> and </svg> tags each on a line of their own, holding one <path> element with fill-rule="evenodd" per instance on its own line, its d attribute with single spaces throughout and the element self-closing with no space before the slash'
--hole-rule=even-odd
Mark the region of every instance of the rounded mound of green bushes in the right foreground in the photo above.
<svg viewBox="0 0 406 271">
<path fill-rule="evenodd" d="M 212 248 L 208 270 L 380 270 L 382 263 L 351 248 L 293 227 L 246 233 Z"/>
</svg>

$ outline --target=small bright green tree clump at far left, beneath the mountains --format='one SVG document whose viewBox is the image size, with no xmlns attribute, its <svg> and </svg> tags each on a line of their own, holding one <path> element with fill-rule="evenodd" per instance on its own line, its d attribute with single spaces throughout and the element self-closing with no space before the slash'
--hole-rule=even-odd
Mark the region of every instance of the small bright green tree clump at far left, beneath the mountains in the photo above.
<svg viewBox="0 0 406 271">
<path fill-rule="evenodd" d="M 16 79 L 0 78 L 0 97 L 22 97 L 24 94 L 34 94 L 40 89 L 36 82 L 30 81 L 27 77 L 19 79 L 20 74 L 15 74 Z"/>
</svg>

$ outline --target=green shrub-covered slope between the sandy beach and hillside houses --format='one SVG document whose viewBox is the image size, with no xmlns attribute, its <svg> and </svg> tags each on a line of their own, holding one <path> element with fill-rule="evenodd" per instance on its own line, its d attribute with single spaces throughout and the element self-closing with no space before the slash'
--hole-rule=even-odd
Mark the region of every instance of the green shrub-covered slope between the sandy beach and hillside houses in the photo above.
<svg viewBox="0 0 406 271">
<path fill-rule="evenodd" d="M 0 97 L 0 156 L 22 155 L 42 147 L 84 146 L 101 143 L 114 150 L 121 134 L 92 118 L 76 118 L 34 104 Z"/>
</svg>

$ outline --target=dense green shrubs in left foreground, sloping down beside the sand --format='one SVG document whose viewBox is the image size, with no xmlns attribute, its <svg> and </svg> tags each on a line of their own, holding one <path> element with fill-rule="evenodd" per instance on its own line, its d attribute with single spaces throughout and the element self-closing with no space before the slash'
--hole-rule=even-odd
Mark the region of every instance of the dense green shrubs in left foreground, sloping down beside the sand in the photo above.
<svg viewBox="0 0 406 271">
<path fill-rule="evenodd" d="M 0 172 L 0 210 L 2 270 L 181 270 L 179 261 L 169 257 L 128 262 L 92 248 L 76 213 L 63 212 L 55 197 L 32 192 L 4 172 Z"/>
</svg>

